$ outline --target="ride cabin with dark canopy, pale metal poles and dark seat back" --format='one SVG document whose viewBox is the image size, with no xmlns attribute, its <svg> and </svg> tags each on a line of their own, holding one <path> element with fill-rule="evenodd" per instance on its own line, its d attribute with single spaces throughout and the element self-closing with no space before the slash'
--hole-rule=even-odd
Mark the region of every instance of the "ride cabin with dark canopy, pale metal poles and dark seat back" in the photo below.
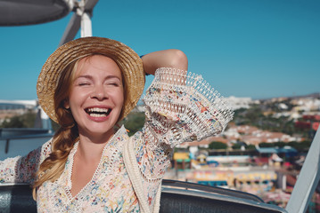
<svg viewBox="0 0 320 213">
<path fill-rule="evenodd" d="M 62 19 L 73 15 L 61 42 L 92 36 L 91 17 L 98 0 L 1 0 L 0 26 L 21 26 Z M 1 139 L 1 136 L 0 136 Z M 257 196 L 209 185 L 163 180 L 160 212 L 305 212 L 319 182 L 320 133 L 291 193 L 286 209 L 267 204 Z M 37 212 L 29 185 L 0 184 L 0 212 Z"/>
</svg>

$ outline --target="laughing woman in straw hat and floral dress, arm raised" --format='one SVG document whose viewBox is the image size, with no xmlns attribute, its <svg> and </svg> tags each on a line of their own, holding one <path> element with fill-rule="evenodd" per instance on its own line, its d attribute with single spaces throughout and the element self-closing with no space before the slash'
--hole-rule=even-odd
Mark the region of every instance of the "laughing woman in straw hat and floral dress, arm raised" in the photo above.
<svg viewBox="0 0 320 213">
<path fill-rule="evenodd" d="M 123 43 L 79 38 L 46 60 L 37 81 L 45 113 L 58 122 L 52 140 L 26 157 L 0 162 L 0 181 L 33 185 L 38 212 L 158 212 L 172 149 L 220 133 L 233 112 L 185 54 L 140 59 Z M 131 138 L 114 126 L 135 107 L 144 74 L 145 124 Z"/>
</svg>

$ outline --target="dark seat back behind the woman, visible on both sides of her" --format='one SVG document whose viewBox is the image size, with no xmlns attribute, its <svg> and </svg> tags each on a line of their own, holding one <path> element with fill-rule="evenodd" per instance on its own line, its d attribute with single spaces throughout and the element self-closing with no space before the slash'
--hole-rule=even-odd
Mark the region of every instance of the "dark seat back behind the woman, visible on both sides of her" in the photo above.
<svg viewBox="0 0 320 213">
<path fill-rule="evenodd" d="M 37 203 L 32 199 L 30 186 L 0 185 L 0 212 L 37 212 Z M 164 188 L 161 193 L 160 212 L 284 213 L 286 211 L 274 205 L 231 195 Z"/>
</svg>

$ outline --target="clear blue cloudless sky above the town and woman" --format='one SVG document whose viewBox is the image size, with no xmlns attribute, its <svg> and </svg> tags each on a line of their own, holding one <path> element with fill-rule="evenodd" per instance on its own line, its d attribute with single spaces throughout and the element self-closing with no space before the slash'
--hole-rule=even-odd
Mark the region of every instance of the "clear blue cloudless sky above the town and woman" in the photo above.
<svg viewBox="0 0 320 213">
<path fill-rule="evenodd" d="M 37 75 L 69 20 L 0 27 L 0 99 L 37 99 Z M 100 0 L 92 21 L 94 36 L 139 55 L 185 51 L 189 70 L 226 97 L 320 92 L 318 0 Z"/>
</svg>

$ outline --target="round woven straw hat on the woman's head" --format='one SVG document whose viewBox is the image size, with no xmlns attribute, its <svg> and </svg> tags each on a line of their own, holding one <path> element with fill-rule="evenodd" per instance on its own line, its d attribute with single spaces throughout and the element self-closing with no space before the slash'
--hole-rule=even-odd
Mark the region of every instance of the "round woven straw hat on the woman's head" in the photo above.
<svg viewBox="0 0 320 213">
<path fill-rule="evenodd" d="M 124 43 L 103 37 L 83 37 L 63 44 L 45 61 L 37 79 L 37 98 L 40 106 L 54 121 L 54 92 L 62 71 L 71 62 L 91 55 L 103 54 L 118 64 L 125 81 L 125 101 L 119 120 L 135 107 L 144 91 L 144 68 L 142 59 Z"/>
</svg>

